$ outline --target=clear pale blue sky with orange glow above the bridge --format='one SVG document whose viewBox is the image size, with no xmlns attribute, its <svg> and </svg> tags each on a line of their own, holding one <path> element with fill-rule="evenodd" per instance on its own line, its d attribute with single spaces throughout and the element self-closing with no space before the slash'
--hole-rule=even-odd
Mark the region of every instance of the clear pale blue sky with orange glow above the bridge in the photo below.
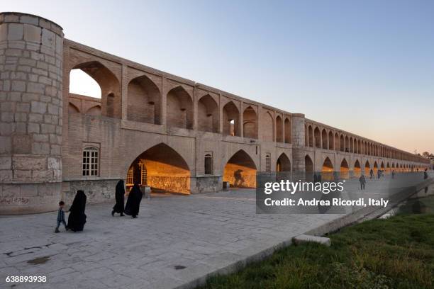
<svg viewBox="0 0 434 289">
<path fill-rule="evenodd" d="M 65 37 L 434 153 L 434 1 L 1 1 Z"/>
</svg>

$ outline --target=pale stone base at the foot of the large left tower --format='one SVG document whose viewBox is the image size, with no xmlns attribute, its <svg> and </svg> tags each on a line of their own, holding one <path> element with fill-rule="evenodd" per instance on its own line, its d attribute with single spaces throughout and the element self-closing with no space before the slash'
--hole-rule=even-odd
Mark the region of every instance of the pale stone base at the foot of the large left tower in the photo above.
<svg viewBox="0 0 434 289">
<path fill-rule="evenodd" d="M 57 210 L 62 183 L 0 184 L 0 215 L 23 215 Z"/>
</svg>

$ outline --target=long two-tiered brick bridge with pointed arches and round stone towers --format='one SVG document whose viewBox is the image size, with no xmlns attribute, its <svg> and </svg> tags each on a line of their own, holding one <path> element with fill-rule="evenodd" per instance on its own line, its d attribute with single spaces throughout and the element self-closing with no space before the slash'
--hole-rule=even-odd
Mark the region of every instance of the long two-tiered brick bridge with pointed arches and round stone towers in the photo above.
<svg viewBox="0 0 434 289">
<path fill-rule="evenodd" d="M 81 69 L 101 98 L 69 93 Z M 427 159 L 67 40 L 38 16 L 0 14 L 0 214 L 55 210 L 119 179 L 154 191 L 255 186 L 256 171 L 416 171 Z"/>
</svg>

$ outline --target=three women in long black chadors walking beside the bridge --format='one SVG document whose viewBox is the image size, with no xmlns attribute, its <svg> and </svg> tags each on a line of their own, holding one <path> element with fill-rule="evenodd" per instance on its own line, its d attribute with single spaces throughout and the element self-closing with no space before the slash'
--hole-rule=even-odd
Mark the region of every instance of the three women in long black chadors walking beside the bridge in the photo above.
<svg viewBox="0 0 434 289">
<path fill-rule="evenodd" d="M 138 186 L 137 183 L 134 184 L 133 188 L 131 188 L 131 191 L 128 194 L 125 208 L 123 207 L 125 200 L 125 186 L 123 180 L 119 180 L 116 184 L 115 198 L 116 205 L 114 205 L 113 211 L 111 212 L 112 216 L 114 216 L 115 212 L 121 214 L 121 216 L 123 216 L 124 213 L 126 215 L 132 216 L 133 218 L 138 216 L 140 201 L 142 200 L 142 192 L 140 191 L 140 186 Z M 84 194 L 84 191 L 79 190 L 75 194 L 71 208 L 69 208 L 67 228 L 73 232 L 83 231 L 84 224 L 86 223 L 86 214 L 84 214 L 86 200 L 87 197 Z"/>
</svg>

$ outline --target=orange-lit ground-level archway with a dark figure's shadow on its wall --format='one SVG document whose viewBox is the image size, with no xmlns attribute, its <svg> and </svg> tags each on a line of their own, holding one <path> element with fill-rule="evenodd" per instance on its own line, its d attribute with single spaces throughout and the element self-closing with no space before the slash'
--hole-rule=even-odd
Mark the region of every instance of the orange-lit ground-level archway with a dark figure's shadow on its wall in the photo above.
<svg viewBox="0 0 434 289">
<path fill-rule="evenodd" d="M 238 188 L 256 188 L 256 165 L 247 152 L 240 149 L 226 163 L 223 181 Z"/>
</svg>

